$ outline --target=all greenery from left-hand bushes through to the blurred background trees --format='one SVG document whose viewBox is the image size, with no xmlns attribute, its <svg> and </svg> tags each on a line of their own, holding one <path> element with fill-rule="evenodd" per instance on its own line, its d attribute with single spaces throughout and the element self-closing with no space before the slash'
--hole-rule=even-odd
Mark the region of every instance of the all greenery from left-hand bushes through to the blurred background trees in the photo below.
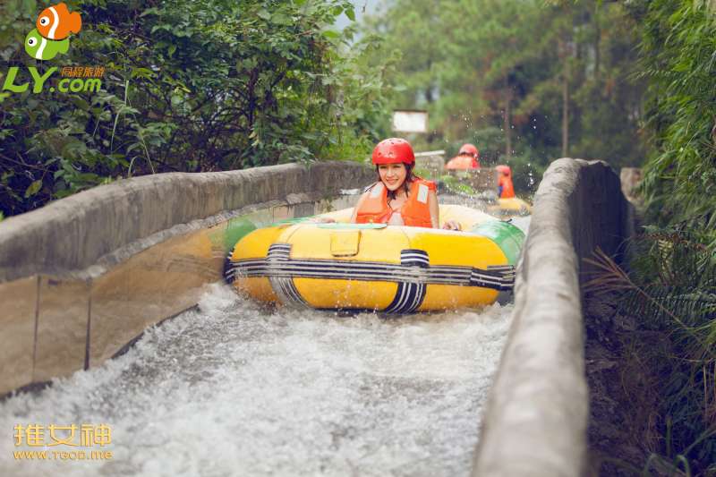
<svg viewBox="0 0 716 477">
<path fill-rule="evenodd" d="M 0 81 L 11 66 L 18 81 L 27 66 L 106 68 L 99 93 L 0 91 L 5 216 L 131 175 L 364 158 L 393 134 L 392 108 L 429 110 L 417 149 L 475 142 L 523 192 L 558 156 L 644 157 L 620 4 L 396 0 L 352 41 L 332 27 L 354 17 L 347 0 L 67 3 L 83 28 L 44 62 L 22 42 L 47 3 L 4 5 Z"/>
</svg>

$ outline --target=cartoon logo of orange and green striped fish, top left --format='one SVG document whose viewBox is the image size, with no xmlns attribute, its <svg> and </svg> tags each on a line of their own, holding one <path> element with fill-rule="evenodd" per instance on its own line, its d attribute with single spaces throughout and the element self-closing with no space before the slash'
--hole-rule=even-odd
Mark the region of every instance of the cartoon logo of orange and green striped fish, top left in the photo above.
<svg viewBox="0 0 716 477">
<path fill-rule="evenodd" d="M 25 51 L 36 60 L 51 60 L 70 49 L 70 33 L 77 34 L 82 28 L 80 13 L 67 9 L 59 3 L 42 11 L 36 21 L 37 27 L 25 37 Z"/>
</svg>

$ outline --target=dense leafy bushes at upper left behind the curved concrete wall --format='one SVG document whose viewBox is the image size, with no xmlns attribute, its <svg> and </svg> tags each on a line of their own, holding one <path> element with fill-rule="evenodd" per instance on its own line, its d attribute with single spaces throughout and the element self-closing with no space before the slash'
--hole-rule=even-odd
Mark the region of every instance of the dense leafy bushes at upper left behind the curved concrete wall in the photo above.
<svg viewBox="0 0 716 477">
<path fill-rule="evenodd" d="M 348 51 L 351 30 L 330 30 L 347 0 L 68 4 L 82 30 L 49 62 L 22 47 L 40 4 L 10 1 L 0 19 L 0 55 L 25 80 L 36 64 L 106 69 L 98 93 L 0 96 L 6 215 L 132 175 L 362 159 L 377 139 L 386 89 L 359 65 L 379 39 Z"/>
</svg>

